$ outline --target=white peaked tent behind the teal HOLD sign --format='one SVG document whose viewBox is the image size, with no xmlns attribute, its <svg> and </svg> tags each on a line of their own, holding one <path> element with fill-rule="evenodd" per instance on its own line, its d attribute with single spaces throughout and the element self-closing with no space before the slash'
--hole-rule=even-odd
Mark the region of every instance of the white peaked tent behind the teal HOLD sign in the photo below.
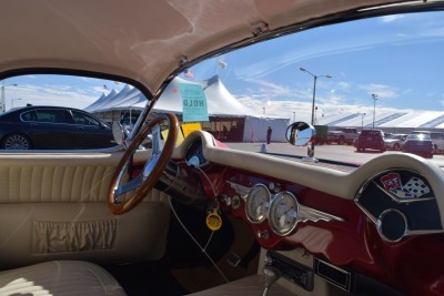
<svg viewBox="0 0 444 296">
<path fill-rule="evenodd" d="M 208 98 L 208 113 L 212 121 L 214 118 L 244 119 L 242 136 L 244 142 L 265 141 L 269 125 L 273 129 L 272 141 L 285 141 L 284 133 L 289 119 L 264 118 L 258 111 L 243 105 L 226 90 L 218 75 L 202 81 L 174 78 L 161 94 L 153 110 L 182 114 L 181 84 L 196 84 L 203 89 Z M 102 95 L 84 110 L 94 114 L 118 110 L 143 110 L 147 103 L 147 98 L 138 89 L 125 85 L 120 92 L 113 90 L 108 95 Z"/>
</svg>

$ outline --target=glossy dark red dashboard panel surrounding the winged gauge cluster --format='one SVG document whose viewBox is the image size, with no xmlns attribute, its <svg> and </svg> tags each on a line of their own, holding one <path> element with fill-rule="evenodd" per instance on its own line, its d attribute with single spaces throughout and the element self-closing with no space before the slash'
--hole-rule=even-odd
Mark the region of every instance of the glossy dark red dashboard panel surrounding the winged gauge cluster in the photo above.
<svg viewBox="0 0 444 296">
<path fill-rule="evenodd" d="M 389 243 L 381 238 L 373 222 L 354 201 L 233 169 L 212 166 L 205 172 L 212 183 L 211 191 L 216 192 L 214 200 L 219 202 L 220 210 L 249 224 L 262 247 L 304 247 L 314 256 L 371 276 L 408 295 L 424 295 L 424 290 L 430 292 L 427 295 L 444 293 L 444 266 L 436 264 L 444 259 L 442 234 L 412 236 Z M 214 196 L 210 193 L 208 182 L 203 183 L 206 184 L 208 196 Z M 240 188 L 245 191 L 258 183 L 289 191 L 300 204 L 339 216 L 343 221 L 300 222 L 290 234 L 278 235 L 271 229 L 268 220 L 252 223 L 246 217 L 245 196 L 242 196 Z"/>
</svg>

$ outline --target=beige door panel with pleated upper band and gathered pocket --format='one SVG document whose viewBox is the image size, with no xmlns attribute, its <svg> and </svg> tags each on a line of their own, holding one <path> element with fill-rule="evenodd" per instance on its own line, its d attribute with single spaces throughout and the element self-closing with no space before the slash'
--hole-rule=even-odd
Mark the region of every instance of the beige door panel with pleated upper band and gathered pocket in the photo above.
<svg viewBox="0 0 444 296">
<path fill-rule="evenodd" d="M 120 216 L 108 210 L 120 156 L 0 154 L 0 268 L 160 258 L 170 221 L 167 194 L 152 190 Z"/>
</svg>

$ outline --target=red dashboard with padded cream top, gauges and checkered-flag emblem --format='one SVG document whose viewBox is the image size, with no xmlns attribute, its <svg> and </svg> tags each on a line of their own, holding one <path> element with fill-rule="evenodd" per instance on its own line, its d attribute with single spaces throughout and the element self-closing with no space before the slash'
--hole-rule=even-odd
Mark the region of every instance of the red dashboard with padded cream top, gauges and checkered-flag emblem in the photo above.
<svg viewBox="0 0 444 296">
<path fill-rule="evenodd" d="M 302 247 L 400 287 L 418 274 L 412 285 L 431 287 L 432 275 L 444 272 L 436 265 L 444 248 L 444 173 L 420 156 L 384 153 L 344 172 L 219 147 L 199 132 L 174 157 L 186 161 L 215 210 L 242 220 L 265 249 Z"/>
</svg>

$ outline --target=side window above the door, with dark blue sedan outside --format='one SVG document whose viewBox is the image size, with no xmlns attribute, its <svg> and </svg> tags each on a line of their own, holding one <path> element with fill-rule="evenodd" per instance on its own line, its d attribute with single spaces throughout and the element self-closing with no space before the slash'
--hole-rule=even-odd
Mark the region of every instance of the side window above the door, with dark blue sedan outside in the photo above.
<svg viewBox="0 0 444 296">
<path fill-rule="evenodd" d="M 112 123 L 134 122 L 149 103 L 133 85 L 91 76 L 29 73 L 2 85 L 0 150 L 109 149 Z"/>
</svg>

